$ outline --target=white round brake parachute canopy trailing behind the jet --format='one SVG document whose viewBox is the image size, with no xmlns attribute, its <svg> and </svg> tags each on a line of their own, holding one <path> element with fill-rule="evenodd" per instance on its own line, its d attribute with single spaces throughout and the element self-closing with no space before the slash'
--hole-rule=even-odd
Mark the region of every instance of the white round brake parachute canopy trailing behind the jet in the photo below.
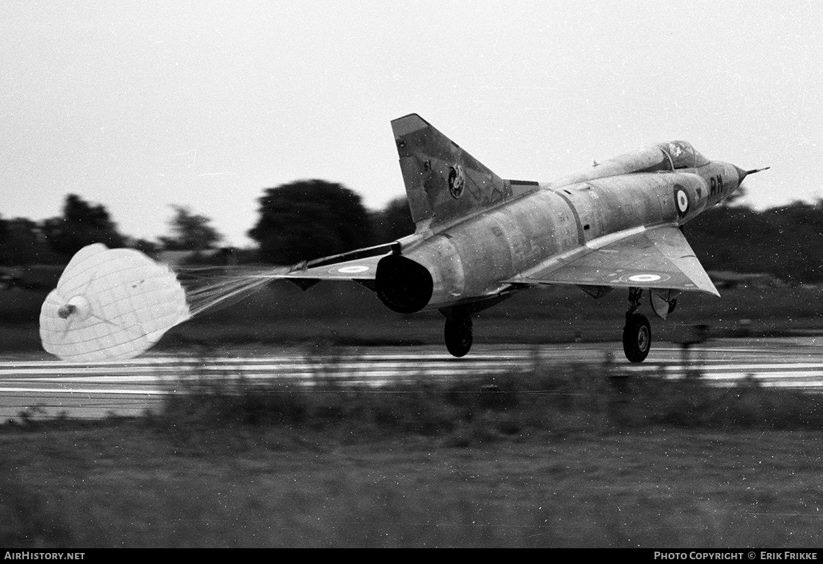
<svg viewBox="0 0 823 564">
<path fill-rule="evenodd" d="M 40 340 L 78 362 L 133 358 L 191 317 L 174 272 L 135 249 L 81 248 L 40 309 Z"/>
</svg>

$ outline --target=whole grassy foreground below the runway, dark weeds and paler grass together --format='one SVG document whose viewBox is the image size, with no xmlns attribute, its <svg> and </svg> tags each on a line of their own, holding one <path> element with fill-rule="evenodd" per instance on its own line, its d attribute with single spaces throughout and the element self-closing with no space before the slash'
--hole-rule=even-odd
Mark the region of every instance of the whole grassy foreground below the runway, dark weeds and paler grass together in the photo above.
<svg viewBox="0 0 823 564">
<path fill-rule="evenodd" d="M 137 420 L 0 431 L 0 543 L 808 547 L 823 399 L 536 368 L 383 389 L 187 378 Z"/>
</svg>

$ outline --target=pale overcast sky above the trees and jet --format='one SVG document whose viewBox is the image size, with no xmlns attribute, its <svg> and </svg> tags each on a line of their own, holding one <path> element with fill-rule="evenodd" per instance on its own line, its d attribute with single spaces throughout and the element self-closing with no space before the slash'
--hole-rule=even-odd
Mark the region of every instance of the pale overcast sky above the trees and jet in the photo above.
<svg viewBox="0 0 823 564">
<path fill-rule="evenodd" d="M 3 218 L 77 193 L 154 239 L 181 204 L 247 245 L 266 187 L 403 196 L 407 113 L 504 178 L 685 139 L 770 165 L 746 181 L 758 209 L 823 197 L 817 0 L 9 0 L 0 22 Z"/>
</svg>

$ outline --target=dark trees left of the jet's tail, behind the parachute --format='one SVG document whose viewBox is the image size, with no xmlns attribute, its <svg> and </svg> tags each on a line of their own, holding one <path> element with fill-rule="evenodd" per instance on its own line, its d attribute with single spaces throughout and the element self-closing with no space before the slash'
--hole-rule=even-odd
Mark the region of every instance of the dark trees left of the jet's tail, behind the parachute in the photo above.
<svg viewBox="0 0 823 564">
<path fill-rule="evenodd" d="M 249 237 L 258 243 L 245 260 L 295 262 L 385 243 L 414 232 L 405 198 L 383 210 L 367 210 L 356 192 L 324 180 L 300 180 L 267 188 L 258 199 L 258 220 Z M 156 240 L 121 233 L 105 206 L 69 194 L 63 213 L 42 221 L 7 219 L 0 210 L 0 266 L 60 265 L 91 243 L 133 247 L 148 254 L 198 252 L 221 247 L 223 236 L 205 215 L 171 206 L 169 233 Z"/>
</svg>

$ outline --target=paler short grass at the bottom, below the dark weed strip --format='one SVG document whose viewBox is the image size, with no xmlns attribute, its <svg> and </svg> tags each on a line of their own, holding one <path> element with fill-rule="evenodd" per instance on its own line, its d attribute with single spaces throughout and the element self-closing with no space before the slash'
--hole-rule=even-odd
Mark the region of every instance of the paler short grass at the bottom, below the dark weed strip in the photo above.
<svg viewBox="0 0 823 564">
<path fill-rule="evenodd" d="M 7 548 L 820 546 L 818 432 L 0 437 Z"/>
</svg>

